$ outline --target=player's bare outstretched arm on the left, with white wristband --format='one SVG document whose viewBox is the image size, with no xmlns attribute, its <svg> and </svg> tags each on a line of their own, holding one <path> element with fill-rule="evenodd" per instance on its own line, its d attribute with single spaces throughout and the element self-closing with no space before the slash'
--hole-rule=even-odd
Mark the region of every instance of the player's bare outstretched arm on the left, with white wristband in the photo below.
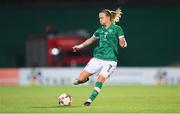
<svg viewBox="0 0 180 114">
<path fill-rule="evenodd" d="M 92 44 L 93 42 L 95 42 L 97 40 L 96 36 L 92 36 L 91 38 L 87 39 L 85 42 L 83 42 L 82 44 L 79 45 L 75 45 L 73 46 L 73 52 L 77 52 L 78 50 L 80 50 L 81 48 L 87 47 L 90 44 Z"/>
</svg>

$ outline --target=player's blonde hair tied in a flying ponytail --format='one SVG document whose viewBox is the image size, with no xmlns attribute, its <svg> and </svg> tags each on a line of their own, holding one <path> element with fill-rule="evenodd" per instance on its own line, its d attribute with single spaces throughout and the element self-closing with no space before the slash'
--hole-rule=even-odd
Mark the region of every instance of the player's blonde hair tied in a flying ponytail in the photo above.
<svg viewBox="0 0 180 114">
<path fill-rule="evenodd" d="M 123 14 L 122 10 L 120 8 L 117 8 L 115 11 L 104 9 L 100 13 L 105 13 L 107 16 L 109 16 L 111 22 L 113 22 L 113 23 L 119 22 L 122 14 Z"/>
</svg>

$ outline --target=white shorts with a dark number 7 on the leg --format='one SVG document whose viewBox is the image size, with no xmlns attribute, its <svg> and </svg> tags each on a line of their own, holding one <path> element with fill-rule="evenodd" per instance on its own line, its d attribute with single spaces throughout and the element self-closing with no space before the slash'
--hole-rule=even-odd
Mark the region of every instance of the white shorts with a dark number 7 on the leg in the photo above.
<svg viewBox="0 0 180 114">
<path fill-rule="evenodd" d="M 100 75 L 103 75 L 107 79 L 115 71 L 116 67 L 117 67 L 116 61 L 107 61 L 107 60 L 92 58 L 88 62 L 84 70 L 86 70 L 91 74 L 95 74 L 99 72 Z"/>
</svg>

